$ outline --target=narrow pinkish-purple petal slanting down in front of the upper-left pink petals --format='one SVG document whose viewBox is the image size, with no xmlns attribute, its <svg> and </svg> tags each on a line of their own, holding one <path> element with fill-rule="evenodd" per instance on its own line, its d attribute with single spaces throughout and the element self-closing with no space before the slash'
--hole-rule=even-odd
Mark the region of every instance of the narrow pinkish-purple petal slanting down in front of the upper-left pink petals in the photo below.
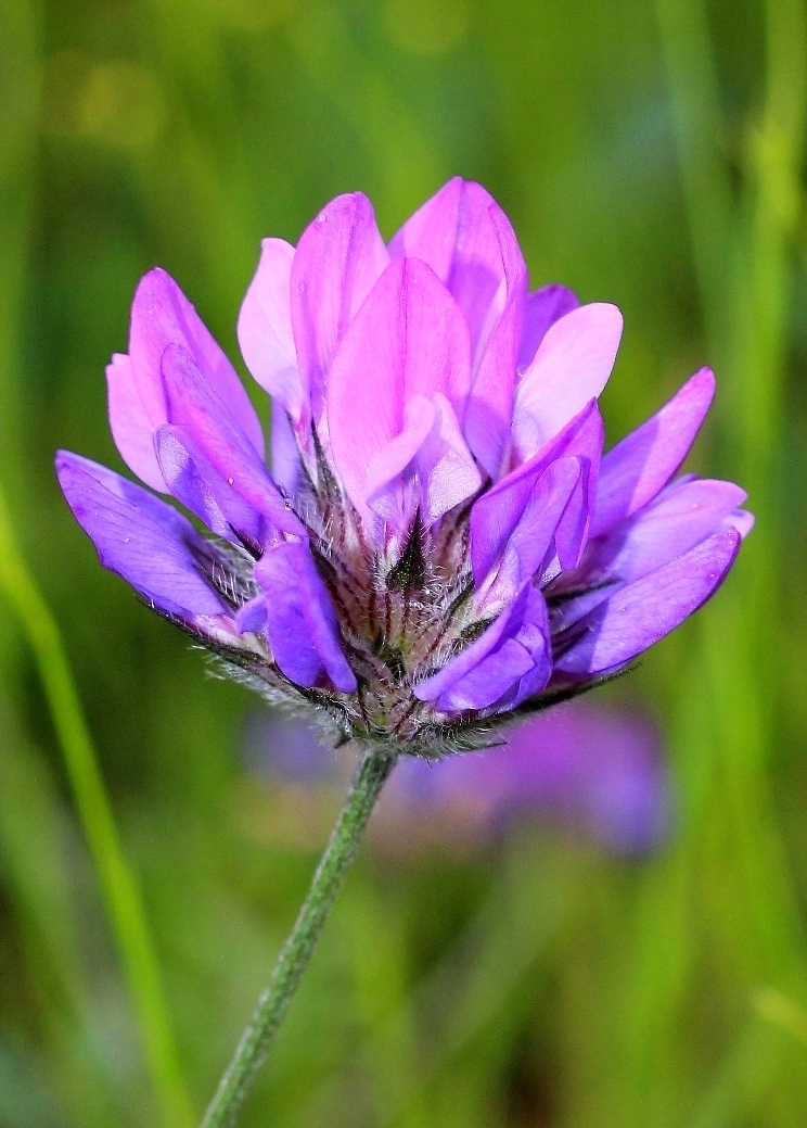
<svg viewBox="0 0 807 1128">
<path fill-rule="evenodd" d="M 162 376 L 169 421 L 187 428 L 213 468 L 252 509 L 277 529 L 305 536 L 264 462 L 181 345 L 166 349 Z"/>
</svg>

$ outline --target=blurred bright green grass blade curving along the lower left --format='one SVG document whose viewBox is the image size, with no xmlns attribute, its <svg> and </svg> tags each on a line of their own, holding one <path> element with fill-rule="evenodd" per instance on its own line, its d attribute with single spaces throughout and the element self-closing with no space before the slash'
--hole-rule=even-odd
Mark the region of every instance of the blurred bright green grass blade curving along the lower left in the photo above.
<svg viewBox="0 0 807 1128">
<path fill-rule="evenodd" d="M 2 492 L 0 588 L 19 616 L 38 667 L 79 818 L 98 871 L 140 1016 L 162 1120 L 166 1128 L 189 1125 L 190 1104 L 181 1081 L 138 881 L 121 846 L 59 627 L 17 548 Z"/>
</svg>

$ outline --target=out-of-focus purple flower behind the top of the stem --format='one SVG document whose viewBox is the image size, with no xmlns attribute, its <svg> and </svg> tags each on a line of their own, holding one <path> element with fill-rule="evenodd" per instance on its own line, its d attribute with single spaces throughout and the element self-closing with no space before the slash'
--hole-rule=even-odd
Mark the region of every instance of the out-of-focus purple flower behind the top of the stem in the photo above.
<svg viewBox="0 0 807 1128">
<path fill-rule="evenodd" d="M 274 713 L 251 719 L 246 747 L 255 775 L 295 795 L 301 785 L 338 792 L 351 769 L 352 757 L 335 756 L 313 730 Z M 282 803 L 286 812 L 295 805 Z M 464 849 L 521 822 L 553 821 L 606 849 L 639 854 L 665 839 L 671 808 L 669 774 L 649 721 L 566 704 L 515 729 L 498 748 L 436 763 L 406 757 L 379 800 L 371 832 L 383 851 L 408 855 L 433 846 Z M 327 834 L 327 816 L 321 826 L 312 820 L 310 795 L 303 812 L 309 829 Z M 301 835 L 287 818 L 283 826 Z"/>
</svg>

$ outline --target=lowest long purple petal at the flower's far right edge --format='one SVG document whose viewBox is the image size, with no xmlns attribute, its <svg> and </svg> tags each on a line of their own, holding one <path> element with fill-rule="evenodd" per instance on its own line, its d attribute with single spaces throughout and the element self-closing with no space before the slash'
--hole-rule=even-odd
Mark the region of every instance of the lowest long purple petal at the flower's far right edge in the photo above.
<svg viewBox="0 0 807 1128">
<path fill-rule="evenodd" d="M 556 659 L 556 670 L 591 676 L 636 658 L 717 591 L 739 543 L 736 529 L 725 529 L 603 600 L 575 625 L 576 641 Z"/>
</svg>

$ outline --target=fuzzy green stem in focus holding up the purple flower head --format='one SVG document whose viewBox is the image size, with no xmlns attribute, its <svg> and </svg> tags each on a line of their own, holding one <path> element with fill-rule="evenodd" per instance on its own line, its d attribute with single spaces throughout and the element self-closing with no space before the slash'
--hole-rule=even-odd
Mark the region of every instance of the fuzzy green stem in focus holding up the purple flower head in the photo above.
<svg viewBox="0 0 807 1128">
<path fill-rule="evenodd" d="M 308 967 L 328 914 L 345 880 L 367 819 L 394 757 L 367 752 L 362 760 L 334 832 L 320 858 L 275 970 L 252 1012 L 230 1065 L 202 1121 L 202 1128 L 229 1128 L 263 1065 L 272 1040 Z"/>
</svg>

